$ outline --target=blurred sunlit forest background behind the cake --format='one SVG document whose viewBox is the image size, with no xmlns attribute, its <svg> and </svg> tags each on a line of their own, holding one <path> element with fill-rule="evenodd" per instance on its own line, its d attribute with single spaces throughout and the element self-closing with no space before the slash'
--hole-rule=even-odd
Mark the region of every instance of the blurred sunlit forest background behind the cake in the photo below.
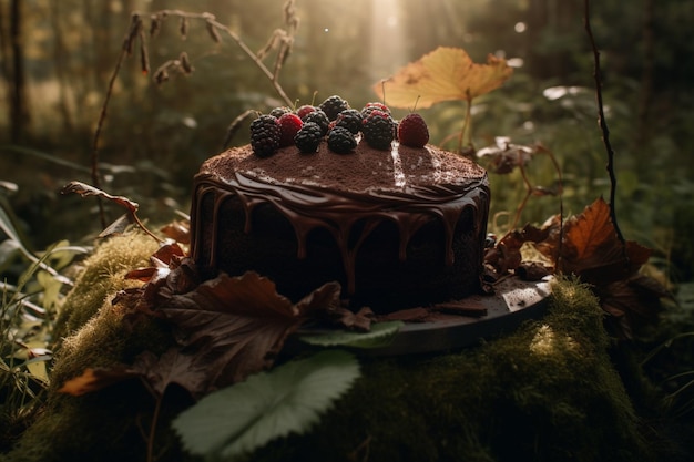
<svg viewBox="0 0 694 462">
<path fill-rule="evenodd" d="M 59 239 L 91 242 L 101 230 L 95 203 L 61 196 L 72 179 L 91 182 L 94 132 L 119 63 L 131 14 L 207 11 L 252 49 L 286 27 L 280 0 L 0 0 L 0 198 L 35 248 Z M 690 0 L 602 0 L 590 19 L 601 51 L 603 97 L 619 179 L 615 201 L 626 238 L 654 249 L 670 280 L 694 278 L 694 42 Z M 606 155 L 596 124 L 593 54 L 582 0 L 297 0 L 300 24 L 279 83 L 298 104 L 339 94 L 353 106 L 377 100 L 374 84 L 439 45 L 476 62 L 503 57 L 513 76 L 476 99 L 476 148 L 496 137 L 550 150 L 558 160 L 564 213 L 608 197 Z M 192 176 L 222 150 L 229 124 L 247 110 L 285 105 L 228 37 L 212 40 L 204 21 L 183 34 L 170 18 L 146 38 L 152 72 L 139 53 L 123 61 L 102 126 L 102 188 L 140 203 L 142 217 L 167 223 L 187 213 Z M 194 71 L 157 84 L 155 70 L 185 52 Z M 273 57 L 266 59 L 272 66 Z M 386 93 L 387 103 L 387 93 Z M 412 105 L 415 102 L 412 102 Z M 418 111 L 431 141 L 460 130 L 461 102 Z M 402 116 L 407 111 L 396 111 Z M 244 144 L 239 130 L 232 144 Z M 446 146 L 455 148 L 455 145 Z M 547 191 L 559 178 L 549 160 L 528 177 Z M 492 175 L 491 230 L 525 195 L 519 172 Z M 559 198 L 533 197 L 522 224 L 559 212 Z M 110 211 L 114 219 L 121 211 Z"/>
</svg>

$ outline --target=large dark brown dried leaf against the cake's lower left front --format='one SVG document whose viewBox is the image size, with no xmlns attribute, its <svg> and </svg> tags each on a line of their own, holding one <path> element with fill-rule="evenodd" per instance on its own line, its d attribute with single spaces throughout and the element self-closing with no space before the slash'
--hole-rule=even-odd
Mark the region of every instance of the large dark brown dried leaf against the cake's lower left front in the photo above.
<svg viewBox="0 0 694 462">
<path fill-rule="evenodd" d="M 172 295 L 156 310 L 174 325 L 182 347 L 212 358 L 212 389 L 272 366 L 287 336 L 312 311 L 339 304 L 339 291 L 337 283 L 328 283 L 293 305 L 273 281 L 255 273 L 221 274 L 186 294 Z"/>
</svg>

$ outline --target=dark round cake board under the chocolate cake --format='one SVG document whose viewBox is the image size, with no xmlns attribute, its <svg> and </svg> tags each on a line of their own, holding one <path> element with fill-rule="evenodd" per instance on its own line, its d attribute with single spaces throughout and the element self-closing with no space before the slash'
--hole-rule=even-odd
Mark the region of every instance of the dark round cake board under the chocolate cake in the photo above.
<svg viewBox="0 0 694 462">
<path fill-rule="evenodd" d="M 476 295 L 457 304 L 463 308 L 469 305 L 474 310 L 486 309 L 484 315 L 441 312 L 431 321 L 407 322 L 387 346 L 358 352 L 369 356 L 445 352 L 502 336 L 524 320 L 544 315 L 551 294 L 550 281 L 549 276 L 539 281 L 525 281 L 516 276 L 506 278 L 494 285 L 493 295 Z M 310 335 L 310 331 L 299 333 Z"/>
</svg>

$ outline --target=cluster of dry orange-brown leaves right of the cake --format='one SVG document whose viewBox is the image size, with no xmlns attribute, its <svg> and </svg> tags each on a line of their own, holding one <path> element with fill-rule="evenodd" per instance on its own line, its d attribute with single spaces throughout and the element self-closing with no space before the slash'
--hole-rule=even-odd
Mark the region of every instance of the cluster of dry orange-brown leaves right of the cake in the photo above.
<svg viewBox="0 0 694 462">
<path fill-rule="evenodd" d="M 578 276 L 592 287 L 610 315 L 606 324 L 616 337 L 631 338 L 634 327 L 654 322 L 661 311 L 660 300 L 670 297 L 656 279 L 639 274 L 651 250 L 632 240 L 622 244 L 610 206 L 602 198 L 568 218 L 563 227 L 555 215 L 540 228 L 528 225 L 508 233 L 487 249 L 486 270 L 497 279 L 509 271 L 522 273 L 521 247 L 525 243 L 552 261 L 558 273 Z"/>
</svg>

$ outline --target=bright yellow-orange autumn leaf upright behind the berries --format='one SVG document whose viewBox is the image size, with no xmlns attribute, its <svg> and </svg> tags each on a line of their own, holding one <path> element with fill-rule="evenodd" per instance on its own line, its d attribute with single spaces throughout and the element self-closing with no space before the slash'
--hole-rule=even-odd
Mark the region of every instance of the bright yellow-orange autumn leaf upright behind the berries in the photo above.
<svg viewBox="0 0 694 462">
<path fill-rule="evenodd" d="M 504 59 L 490 54 L 487 64 L 477 64 L 460 48 L 439 47 L 374 90 L 389 106 L 407 109 L 417 102 L 426 109 L 441 101 L 471 101 L 501 86 L 512 73 Z"/>
</svg>

